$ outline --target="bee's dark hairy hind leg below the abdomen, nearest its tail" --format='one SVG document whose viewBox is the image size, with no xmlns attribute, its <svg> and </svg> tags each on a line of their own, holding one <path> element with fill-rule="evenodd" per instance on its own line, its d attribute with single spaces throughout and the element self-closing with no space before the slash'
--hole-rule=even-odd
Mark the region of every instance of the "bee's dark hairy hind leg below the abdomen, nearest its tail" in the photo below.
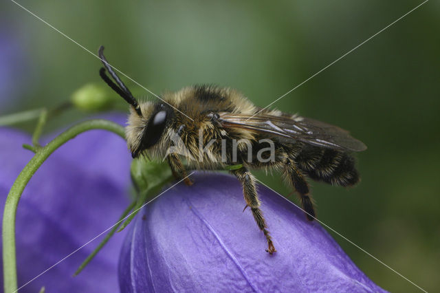
<svg viewBox="0 0 440 293">
<path fill-rule="evenodd" d="M 309 195 L 309 184 L 307 184 L 303 173 L 296 167 L 294 160 L 287 159 L 285 162 L 284 177 L 298 192 L 307 219 L 313 221 L 316 218 L 316 213 L 313 199 Z"/>
</svg>

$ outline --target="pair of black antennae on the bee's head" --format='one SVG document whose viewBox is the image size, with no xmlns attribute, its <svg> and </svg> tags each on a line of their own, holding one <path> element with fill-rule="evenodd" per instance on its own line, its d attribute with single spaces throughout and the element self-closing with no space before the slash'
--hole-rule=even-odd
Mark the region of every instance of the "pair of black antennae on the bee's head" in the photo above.
<svg viewBox="0 0 440 293">
<path fill-rule="evenodd" d="M 101 67 L 101 69 L 99 70 L 99 75 L 101 76 L 102 80 L 104 80 L 105 83 L 107 83 L 107 85 L 109 85 L 109 87 L 111 87 L 111 89 L 113 89 L 113 91 L 115 91 L 122 98 L 124 98 L 124 100 L 126 100 L 126 102 L 128 102 L 131 106 L 133 106 L 133 108 L 135 109 L 136 113 L 139 116 L 142 116 L 142 111 L 140 111 L 140 106 L 137 103 L 137 100 L 133 97 L 133 95 L 131 94 L 131 91 L 129 91 L 129 89 L 124 85 L 124 83 L 122 83 L 122 80 L 120 80 L 119 76 L 113 71 L 113 69 L 109 65 L 109 62 L 105 58 L 104 46 L 99 47 L 98 55 L 102 61 L 102 64 L 104 64 L 104 67 L 105 67 L 105 68 Z M 113 78 L 113 80 L 115 80 L 116 83 L 113 83 L 113 80 L 111 80 L 109 78 L 109 76 L 107 76 L 107 74 L 105 74 L 105 69 L 107 69 L 110 76 Z"/>
</svg>

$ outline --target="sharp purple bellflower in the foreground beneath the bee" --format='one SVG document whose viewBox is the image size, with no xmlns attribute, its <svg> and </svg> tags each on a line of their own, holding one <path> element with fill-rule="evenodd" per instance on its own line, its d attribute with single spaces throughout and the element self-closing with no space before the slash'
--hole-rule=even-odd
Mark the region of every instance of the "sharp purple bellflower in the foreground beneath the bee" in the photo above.
<svg viewBox="0 0 440 293">
<path fill-rule="evenodd" d="M 384 292 L 315 222 L 259 187 L 277 252 L 267 243 L 234 177 L 194 175 L 145 206 L 119 263 L 122 292 Z"/>
</svg>

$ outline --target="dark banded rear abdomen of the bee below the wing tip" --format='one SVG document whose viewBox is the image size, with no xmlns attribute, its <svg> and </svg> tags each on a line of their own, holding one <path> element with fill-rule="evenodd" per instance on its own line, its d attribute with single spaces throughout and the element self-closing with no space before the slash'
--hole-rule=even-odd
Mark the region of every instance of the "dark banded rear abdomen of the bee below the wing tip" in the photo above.
<svg viewBox="0 0 440 293">
<path fill-rule="evenodd" d="M 340 186 L 359 182 L 355 160 L 348 153 L 305 146 L 296 157 L 296 163 L 313 180 Z"/>
</svg>

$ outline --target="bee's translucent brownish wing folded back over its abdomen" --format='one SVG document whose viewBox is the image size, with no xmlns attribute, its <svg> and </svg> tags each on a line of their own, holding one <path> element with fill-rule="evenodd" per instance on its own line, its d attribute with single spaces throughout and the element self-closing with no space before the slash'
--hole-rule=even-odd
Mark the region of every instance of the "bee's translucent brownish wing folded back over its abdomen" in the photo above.
<svg viewBox="0 0 440 293">
<path fill-rule="evenodd" d="M 226 128 L 249 129 L 267 135 L 298 140 L 307 144 L 342 151 L 364 151 L 366 145 L 339 127 L 305 117 L 272 116 L 265 113 L 256 116 L 221 112 L 219 122 Z"/>
</svg>

